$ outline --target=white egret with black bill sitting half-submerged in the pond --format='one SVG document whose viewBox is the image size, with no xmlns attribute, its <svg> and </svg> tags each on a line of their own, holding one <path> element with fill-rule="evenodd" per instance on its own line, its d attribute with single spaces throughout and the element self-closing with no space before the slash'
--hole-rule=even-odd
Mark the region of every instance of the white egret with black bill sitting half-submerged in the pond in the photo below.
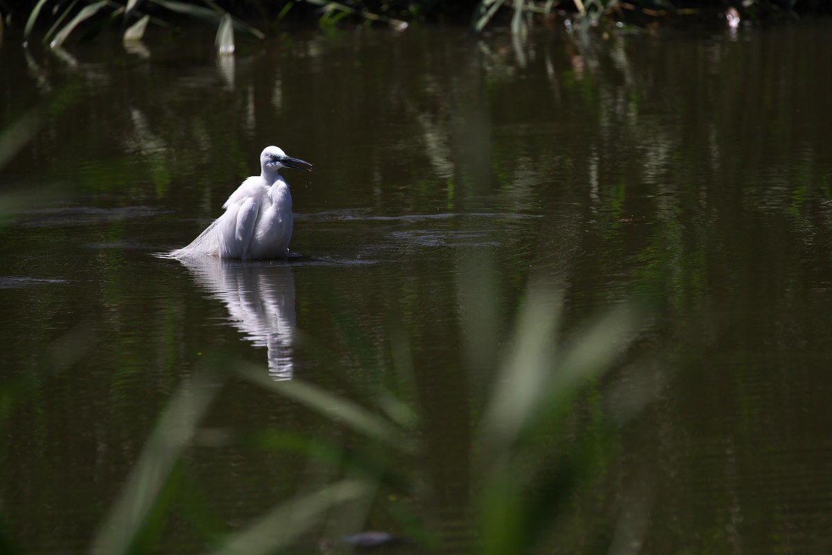
<svg viewBox="0 0 832 555">
<path fill-rule="evenodd" d="M 292 239 L 292 196 L 280 168 L 311 171 L 309 162 L 286 156 L 277 146 L 260 154 L 260 176 L 243 181 L 217 218 L 191 245 L 171 252 L 173 258 L 214 255 L 242 260 L 285 256 Z"/>
</svg>

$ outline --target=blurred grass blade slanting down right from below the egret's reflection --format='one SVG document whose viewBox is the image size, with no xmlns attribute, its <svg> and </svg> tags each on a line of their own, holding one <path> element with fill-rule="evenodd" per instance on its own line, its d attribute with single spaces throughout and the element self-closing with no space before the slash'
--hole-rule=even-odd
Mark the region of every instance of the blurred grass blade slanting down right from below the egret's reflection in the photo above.
<svg viewBox="0 0 832 555">
<path fill-rule="evenodd" d="M 242 375 L 265 389 L 305 404 L 327 418 L 349 426 L 362 434 L 381 439 L 404 450 L 412 448 L 388 420 L 370 413 L 369 410 L 354 404 L 349 399 L 330 394 L 324 389 L 299 379 L 275 382 L 268 374 L 258 370 L 246 369 L 242 371 Z"/>
</svg>

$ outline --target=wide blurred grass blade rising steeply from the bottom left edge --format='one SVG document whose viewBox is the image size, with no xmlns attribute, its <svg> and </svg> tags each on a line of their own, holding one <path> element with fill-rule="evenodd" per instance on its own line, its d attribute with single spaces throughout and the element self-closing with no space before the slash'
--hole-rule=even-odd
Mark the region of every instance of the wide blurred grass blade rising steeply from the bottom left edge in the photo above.
<svg viewBox="0 0 832 555">
<path fill-rule="evenodd" d="M 161 414 L 115 507 L 93 540 L 94 555 L 131 552 L 176 461 L 191 443 L 196 425 L 218 389 L 210 383 L 207 374 L 196 374 L 181 384 Z"/>
</svg>

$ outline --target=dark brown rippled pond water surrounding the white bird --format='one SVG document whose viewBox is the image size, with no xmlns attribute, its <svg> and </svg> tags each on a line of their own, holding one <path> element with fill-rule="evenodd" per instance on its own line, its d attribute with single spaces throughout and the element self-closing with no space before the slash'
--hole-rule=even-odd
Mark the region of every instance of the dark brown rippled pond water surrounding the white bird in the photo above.
<svg viewBox="0 0 832 555">
<path fill-rule="evenodd" d="M 18 38 L 0 47 L 0 491 L 22 550 L 87 553 L 182 379 L 254 365 L 415 415 L 417 447 L 217 377 L 158 553 L 345 472 L 235 430 L 366 448 L 409 479 L 300 543 L 422 523 L 433 539 L 391 552 L 466 553 L 483 407 L 522 307 L 558 295 L 563 337 L 630 300 L 642 316 L 597 347 L 620 343 L 562 426 L 604 455 L 542 553 L 832 550 L 832 23 L 298 32 L 220 62 L 210 30 L 59 56 Z M 152 255 L 271 144 L 314 163 L 283 174 L 294 257 Z"/>
</svg>

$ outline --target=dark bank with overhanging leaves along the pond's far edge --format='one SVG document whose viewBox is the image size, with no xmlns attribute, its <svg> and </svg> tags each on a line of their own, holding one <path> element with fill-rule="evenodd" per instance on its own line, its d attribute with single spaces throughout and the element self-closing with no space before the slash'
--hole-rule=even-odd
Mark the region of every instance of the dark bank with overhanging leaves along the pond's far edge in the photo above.
<svg viewBox="0 0 832 555">
<path fill-rule="evenodd" d="M 489 25 L 661 27 L 716 17 L 730 20 L 794 18 L 830 12 L 830 0 L 0 0 L 2 24 L 30 37 L 61 46 L 77 29 L 92 37 L 105 27 L 120 27 L 126 40 L 141 38 L 146 27 L 175 27 L 182 18 L 263 38 L 286 24 L 369 24 L 404 30 L 414 23 L 449 22 L 482 32 Z M 725 15 L 724 15 L 725 14 Z M 740 19 L 735 19 L 739 22 Z M 2 29 L 2 27 L 0 27 Z"/>
</svg>

